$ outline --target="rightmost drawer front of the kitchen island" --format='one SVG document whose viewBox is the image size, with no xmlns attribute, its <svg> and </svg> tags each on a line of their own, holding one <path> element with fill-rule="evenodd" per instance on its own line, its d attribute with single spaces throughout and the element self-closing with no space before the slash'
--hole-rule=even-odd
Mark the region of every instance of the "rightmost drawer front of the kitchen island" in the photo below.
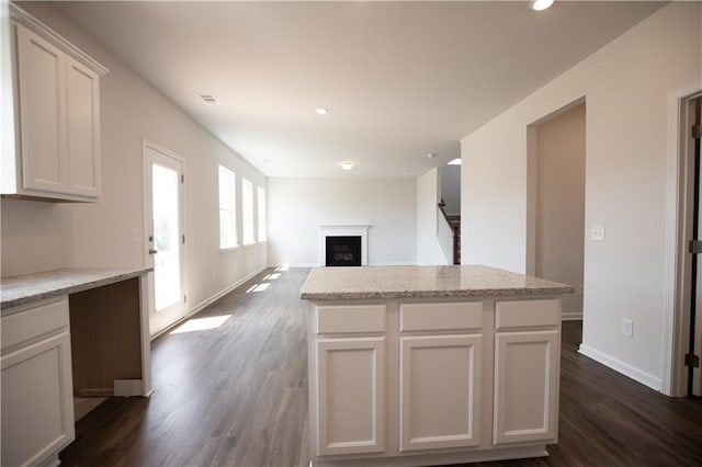
<svg viewBox="0 0 702 467">
<path fill-rule="evenodd" d="M 561 321 L 561 299 L 498 301 L 495 307 L 495 329 L 557 326 Z"/>
</svg>

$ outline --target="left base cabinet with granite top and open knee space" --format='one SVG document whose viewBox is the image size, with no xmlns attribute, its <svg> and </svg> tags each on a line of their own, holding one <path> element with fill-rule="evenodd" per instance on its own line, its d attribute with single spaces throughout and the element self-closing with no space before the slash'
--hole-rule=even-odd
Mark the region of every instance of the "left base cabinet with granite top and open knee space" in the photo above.
<svg viewBox="0 0 702 467">
<path fill-rule="evenodd" d="M 73 396 L 151 394 L 150 271 L 2 277 L 2 465 L 58 465 L 75 438 Z"/>
</svg>

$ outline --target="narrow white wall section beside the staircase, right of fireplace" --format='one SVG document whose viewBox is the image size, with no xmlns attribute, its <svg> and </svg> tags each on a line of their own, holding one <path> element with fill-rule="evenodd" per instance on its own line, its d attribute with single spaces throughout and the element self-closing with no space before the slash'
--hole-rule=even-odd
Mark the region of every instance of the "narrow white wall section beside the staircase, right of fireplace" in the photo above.
<svg viewBox="0 0 702 467">
<path fill-rule="evenodd" d="M 417 178 L 417 264 L 449 264 L 439 232 L 439 169 Z"/>
</svg>

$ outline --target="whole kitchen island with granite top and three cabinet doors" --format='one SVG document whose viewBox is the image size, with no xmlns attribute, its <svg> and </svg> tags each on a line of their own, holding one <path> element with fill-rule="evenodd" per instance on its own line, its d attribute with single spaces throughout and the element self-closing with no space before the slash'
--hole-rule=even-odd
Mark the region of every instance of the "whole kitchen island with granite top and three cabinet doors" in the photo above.
<svg viewBox="0 0 702 467">
<path fill-rule="evenodd" d="M 546 456 L 571 292 L 480 265 L 313 270 L 301 295 L 313 464 Z"/>
</svg>

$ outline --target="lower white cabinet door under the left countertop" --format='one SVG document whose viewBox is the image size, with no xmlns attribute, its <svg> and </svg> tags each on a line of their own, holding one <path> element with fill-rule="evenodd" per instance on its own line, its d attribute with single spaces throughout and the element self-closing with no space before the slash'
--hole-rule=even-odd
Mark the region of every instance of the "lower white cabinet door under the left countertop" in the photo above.
<svg viewBox="0 0 702 467">
<path fill-rule="evenodd" d="M 36 465 L 75 440 L 68 331 L 2 355 L 2 465 Z"/>
</svg>

